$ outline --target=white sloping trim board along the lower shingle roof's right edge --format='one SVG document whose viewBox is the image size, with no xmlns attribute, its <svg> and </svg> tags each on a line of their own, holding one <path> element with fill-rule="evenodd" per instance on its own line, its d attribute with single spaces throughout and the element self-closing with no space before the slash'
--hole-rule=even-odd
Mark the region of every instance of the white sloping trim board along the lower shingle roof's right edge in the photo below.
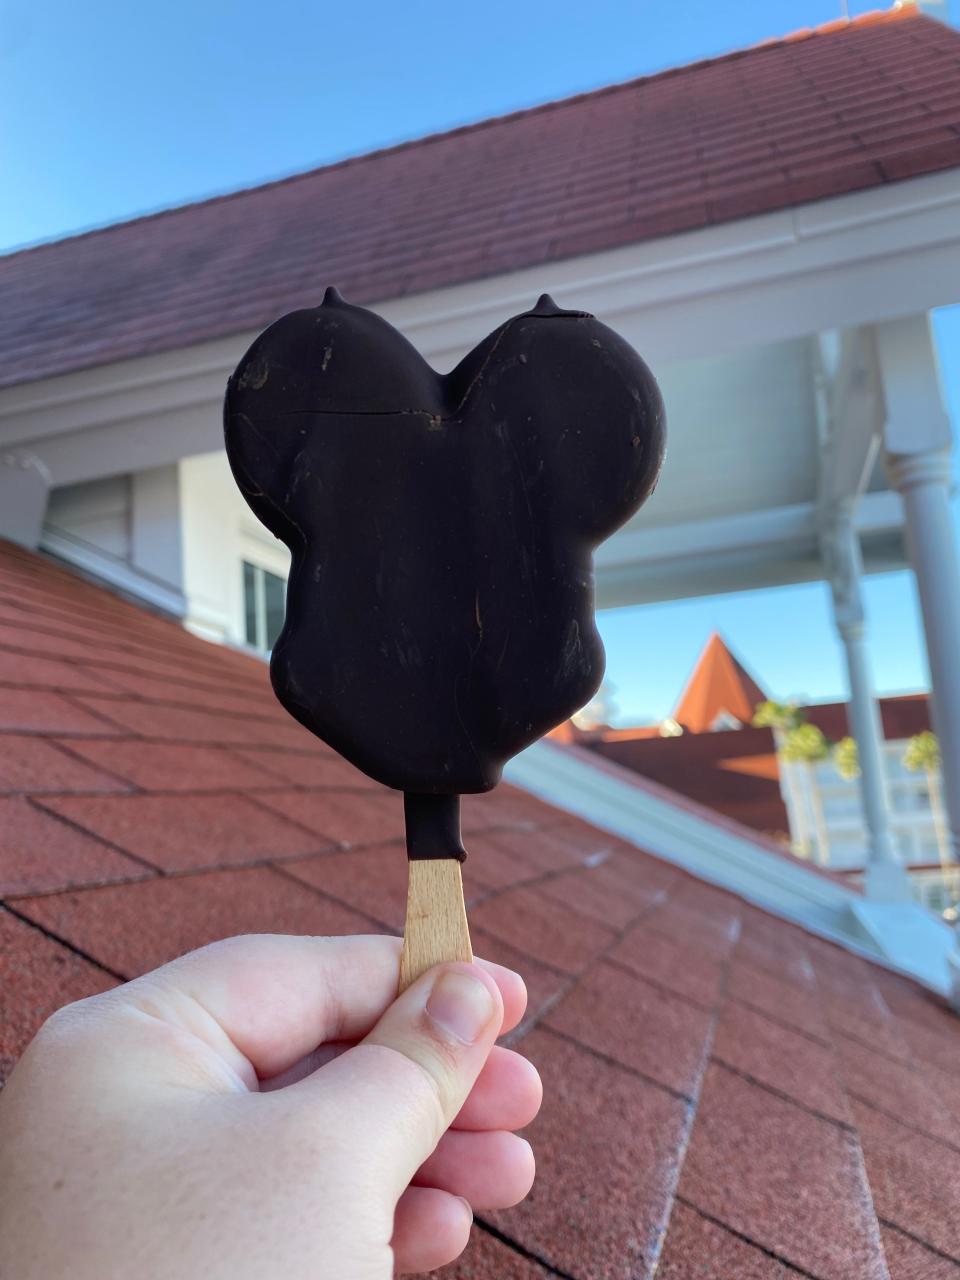
<svg viewBox="0 0 960 1280">
<path fill-rule="evenodd" d="M 764 847 L 748 828 L 584 749 L 539 741 L 507 763 L 504 778 L 644 852 L 682 867 L 773 915 L 856 955 L 951 995 L 952 931 L 914 902 L 876 904 L 842 881 Z M 742 835 L 740 833 L 742 831 Z"/>
</svg>

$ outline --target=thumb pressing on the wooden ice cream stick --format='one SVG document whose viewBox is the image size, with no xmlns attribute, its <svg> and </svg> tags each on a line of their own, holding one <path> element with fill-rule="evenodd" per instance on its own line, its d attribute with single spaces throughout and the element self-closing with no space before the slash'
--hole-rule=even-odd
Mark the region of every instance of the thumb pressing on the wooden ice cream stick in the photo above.
<svg viewBox="0 0 960 1280">
<path fill-rule="evenodd" d="M 493 978 L 476 964 L 438 965 L 370 1034 L 311 1079 L 355 1143 L 376 1155 L 396 1194 L 463 1106 L 503 1021 Z M 294 1088 L 308 1085 L 301 1082 Z"/>
</svg>

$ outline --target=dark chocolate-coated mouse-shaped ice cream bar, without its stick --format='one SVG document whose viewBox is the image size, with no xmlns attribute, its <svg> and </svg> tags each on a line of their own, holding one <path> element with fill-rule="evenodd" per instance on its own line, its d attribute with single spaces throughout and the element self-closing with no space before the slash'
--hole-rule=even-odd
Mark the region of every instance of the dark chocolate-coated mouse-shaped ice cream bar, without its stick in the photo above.
<svg viewBox="0 0 960 1280">
<path fill-rule="evenodd" d="M 488 791 L 600 685 L 591 552 L 652 492 L 637 353 L 544 296 L 436 374 L 328 289 L 230 378 L 227 453 L 292 552 L 270 673 L 308 730 L 402 791 Z"/>
</svg>

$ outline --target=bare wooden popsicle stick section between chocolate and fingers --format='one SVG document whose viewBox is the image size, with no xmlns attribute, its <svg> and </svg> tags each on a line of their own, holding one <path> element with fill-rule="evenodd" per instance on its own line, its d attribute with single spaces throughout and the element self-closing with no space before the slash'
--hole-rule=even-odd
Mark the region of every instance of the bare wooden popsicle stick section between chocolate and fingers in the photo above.
<svg viewBox="0 0 960 1280">
<path fill-rule="evenodd" d="M 401 992 L 435 964 L 474 959 L 457 859 L 411 859 L 407 867 L 410 879 L 401 951 Z"/>
</svg>

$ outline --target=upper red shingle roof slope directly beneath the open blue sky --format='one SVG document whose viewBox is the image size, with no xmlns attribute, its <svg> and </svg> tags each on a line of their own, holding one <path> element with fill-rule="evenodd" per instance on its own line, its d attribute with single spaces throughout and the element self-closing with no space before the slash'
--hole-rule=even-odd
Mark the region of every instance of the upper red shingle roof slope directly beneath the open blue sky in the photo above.
<svg viewBox="0 0 960 1280">
<path fill-rule="evenodd" d="M 0 259 L 0 385 L 960 165 L 960 33 L 913 8 Z"/>
</svg>

